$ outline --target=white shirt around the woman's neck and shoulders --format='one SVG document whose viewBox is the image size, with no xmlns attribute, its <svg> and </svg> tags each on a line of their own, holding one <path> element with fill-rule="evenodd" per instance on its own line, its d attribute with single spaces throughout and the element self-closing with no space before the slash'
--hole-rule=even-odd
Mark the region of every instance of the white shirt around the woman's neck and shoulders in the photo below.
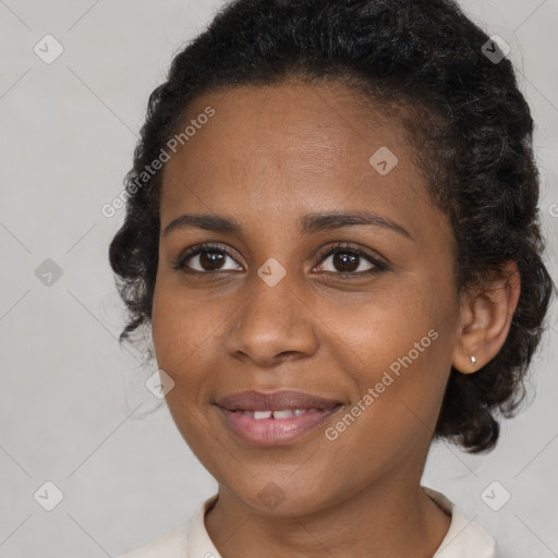
<svg viewBox="0 0 558 558">
<path fill-rule="evenodd" d="M 496 541 L 480 525 L 464 518 L 441 493 L 421 488 L 448 514 L 449 530 L 433 558 L 496 558 Z M 222 558 L 205 527 L 205 513 L 217 495 L 205 500 L 192 519 L 150 543 L 117 558 Z"/>
</svg>

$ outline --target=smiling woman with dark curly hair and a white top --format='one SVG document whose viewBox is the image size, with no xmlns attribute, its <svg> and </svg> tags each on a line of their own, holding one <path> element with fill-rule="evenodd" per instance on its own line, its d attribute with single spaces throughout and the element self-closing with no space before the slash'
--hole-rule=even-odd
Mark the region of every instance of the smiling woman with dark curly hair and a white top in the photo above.
<svg viewBox="0 0 558 558">
<path fill-rule="evenodd" d="M 421 476 L 541 336 L 533 121 L 445 0 L 238 0 L 149 98 L 110 262 L 218 494 L 140 557 L 496 556 Z"/>
</svg>

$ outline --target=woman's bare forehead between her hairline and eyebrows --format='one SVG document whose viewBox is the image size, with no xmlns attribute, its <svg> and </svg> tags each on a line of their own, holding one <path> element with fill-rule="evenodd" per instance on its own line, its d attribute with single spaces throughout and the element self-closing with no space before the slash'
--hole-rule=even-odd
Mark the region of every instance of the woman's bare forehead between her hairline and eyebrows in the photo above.
<svg viewBox="0 0 558 558">
<path fill-rule="evenodd" d="M 208 109 L 214 116 L 198 119 Z M 403 198 L 411 214 L 426 195 L 399 119 L 340 83 L 210 92 L 191 104 L 179 133 L 187 125 L 194 133 L 163 170 L 161 218 L 181 205 L 277 215 L 344 199 L 385 210 Z"/>
</svg>

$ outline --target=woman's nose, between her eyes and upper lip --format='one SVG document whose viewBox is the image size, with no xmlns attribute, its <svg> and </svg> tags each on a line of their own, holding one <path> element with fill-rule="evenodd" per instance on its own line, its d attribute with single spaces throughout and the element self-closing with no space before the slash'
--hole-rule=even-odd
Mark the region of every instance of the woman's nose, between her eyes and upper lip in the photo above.
<svg viewBox="0 0 558 558">
<path fill-rule="evenodd" d="M 229 354 L 262 367 L 314 354 L 318 347 L 317 318 L 296 292 L 289 274 L 275 287 L 257 275 L 251 283 L 246 286 L 251 294 L 227 339 Z"/>
</svg>

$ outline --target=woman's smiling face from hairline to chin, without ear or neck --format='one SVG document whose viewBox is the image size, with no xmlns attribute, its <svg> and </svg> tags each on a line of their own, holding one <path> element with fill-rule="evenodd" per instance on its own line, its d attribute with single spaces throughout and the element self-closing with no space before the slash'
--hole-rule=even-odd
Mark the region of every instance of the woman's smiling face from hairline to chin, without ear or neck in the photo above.
<svg viewBox="0 0 558 558">
<path fill-rule="evenodd" d="M 453 234 L 404 130 L 341 84 L 214 92 L 192 119 L 163 171 L 151 319 L 180 433 L 257 513 L 417 483 L 459 307 Z M 225 400 L 286 390 L 310 399 Z"/>
</svg>

